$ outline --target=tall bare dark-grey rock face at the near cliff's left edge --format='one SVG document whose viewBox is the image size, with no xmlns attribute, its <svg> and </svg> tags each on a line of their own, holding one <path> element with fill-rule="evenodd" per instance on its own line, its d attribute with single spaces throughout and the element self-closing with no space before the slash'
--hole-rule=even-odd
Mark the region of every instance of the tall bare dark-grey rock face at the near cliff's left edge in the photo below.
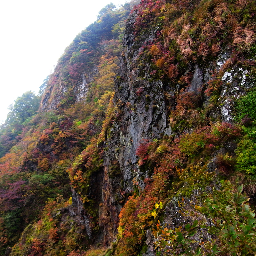
<svg viewBox="0 0 256 256">
<path fill-rule="evenodd" d="M 134 45 L 132 28 L 135 17 L 136 13 L 133 13 L 126 25 L 124 52 L 116 75 L 116 92 L 113 99 L 118 111 L 106 141 L 104 157 L 105 185 L 102 194 L 103 207 L 100 209 L 100 220 L 104 221 L 100 221 L 100 226 L 104 229 L 108 243 L 117 235 L 118 215 L 122 207 L 119 201 L 123 203 L 125 199 L 121 195 L 122 191 L 132 192 L 134 179 L 144 188 L 143 180 L 150 176 L 148 170 L 141 171 L 137 164 L 136 149 L 140 142 L 143 139 L 153 140 L 163 135 L 170 136 L 172 132 L 164 100 L 163 82 L 148 81 L 139 75 L 137 62 L 144 42 L 140 41 Z M 152 40 L 152 37 L 151 35 L 145 40 Z M 145 77 L 150 76 L 149 70 L 144 72 Z M 108 212 L 107 220 L 102 213 L 103 209 Z"/>
</svg>

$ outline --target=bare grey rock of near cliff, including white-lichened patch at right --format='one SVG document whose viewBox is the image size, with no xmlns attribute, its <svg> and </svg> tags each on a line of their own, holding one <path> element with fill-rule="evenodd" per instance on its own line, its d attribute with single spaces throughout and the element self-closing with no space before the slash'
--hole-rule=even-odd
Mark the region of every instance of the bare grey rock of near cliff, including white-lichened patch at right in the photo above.
<svg viewBox="0 0 256 256">
<path fill-rule="evenodd" d="M 133 181 L 143 189 L 145 187 L 143 180 L 150 175 L 147 170 L 140 170 L 137 164 L 136 149 L 140 142 L 143 139 L 152 141 L 164 135 L 174 135 L 168 109 L 169 111 L 174 109 L 177 102 L 167 102 L 165 96 L 168 94 L 174 98 L 181 89 L 178 84 L 173 86 L 173 83 L 166 78 L 152 79 L 149 71 L 152 65 L 150 62 L 143 63 L 143 69 L 140 68 L 140 53 L 143 51 L 143 45 L 154 39 L 157 28 L 140 35 L 140 40 L 135 40 L 133 33 L 135 18 L 134 12 L 126 25 L 124 52 L 116 76 L 114 97 L 118 111 L 106 142 L 103 204 L 100 207 L 100 226 L 104 233 L 104 244 L 110 244 L 115 240 L 118 214 L 123 205 L 122 193 L 127 194 L 134 190 Z M 184 73 L 192 74 L 186 92 L 201 95 L 201 105 L 206 109 L 206 117 L 222 122 L 232 121 L 234 99 L 252 86 L 250 79 L 245 76 L 247 71 L 234 66 L 230 72 L 221 75 L 223 85 L 220 88 L 220 104 L 217 108 L 212 107 L 210 97 L 204 94 L 204 90 L 212 79 L 213 71 L 219 72 L 225 61 L 230 58 L 230 54 L 228 49 L 223 49 L 215 61 L 203 64 L 191 62 Z M 189 132 L 189 128 L 185 131 Z"/>
</svg>

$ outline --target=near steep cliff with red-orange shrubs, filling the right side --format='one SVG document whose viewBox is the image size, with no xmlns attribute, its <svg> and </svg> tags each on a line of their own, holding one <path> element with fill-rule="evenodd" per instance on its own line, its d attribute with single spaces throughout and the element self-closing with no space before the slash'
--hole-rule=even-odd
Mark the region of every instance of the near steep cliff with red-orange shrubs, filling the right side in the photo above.
<svg viewBox="0 0 256 256">
<path fill-rule="evenodd" d="M 105 151 L 109 189 L 105 202 L 115 201 L 116 193 L 122 202 L 122 196 L 135 191 L 119 216 L 117 255 L 137 255 L 140 250 L 151 255 L 155 246 L 164 250 L 168 241 L 173 246 L 166 250 L 175 255 L 193 251 L 207 254 L 215 246 L 219 246 L 220 255 L 254 252 L 255 242 L 249 250 L 240 238 L 248 233 L 241 234 L 240 230 L 246 220 L 236 222 L 236 214 L 244 214 L 239 213 L 241 209 L 236 212 L 237 201 L 231 199 L 236 188 L 228 181 L 220 183 L 222 179 L 235 181 L 235 185 L 244 183 L 244 191 L 254 197 L 254 164 L 247 158 L 252 157 L 253 150 L 244 148 L 244 138 L 251 147 L 254 143 L 252 6 L 250 1 L 193 5 L 142 1 L 127 21 L 113 99 L 119 111 Z M 252 101 L 246 92 L 252 93 Z M 248 169 L 245 162 L 250 165 Z M 230 194 L 216 202 L 221 195 L 214 194 L 216 189 Z M 241 187 L 238 191 L 241 193 Z M 204 201 L 207 197 L 212 201 Z M 165 211 L 159 211 L 162 204 Z M 233 204 L 234 216 L 220 216 L 221 207 L 229 204 Z M 119 207 L 117 204 L 116 212 Z M 112 210 L 109 215 L 116 212 Z M 168 237 L 158 226 L 154 238 L 150 228 L 160 213 L 162 225 L 171 231 Z M 239 237 L 234 244 L 229 242 L 230 227 L 218 225 L 226 217 L 233 218 L 231 228 Z M 209 222 L 209 218 L 218 221 Z M 197 221 L 200 224 L 195 224 Z M 218 231 L 209 228 L 214 224 Z M 228 235 L 222 236 L 221 229 Z M 161 242 L 153 245 L 156 234 L 163 235 Z M 247 238 L 253 241 L 253 234 Z M 189 239 L 184 238 L 187 236 Z"/>
</svg>

